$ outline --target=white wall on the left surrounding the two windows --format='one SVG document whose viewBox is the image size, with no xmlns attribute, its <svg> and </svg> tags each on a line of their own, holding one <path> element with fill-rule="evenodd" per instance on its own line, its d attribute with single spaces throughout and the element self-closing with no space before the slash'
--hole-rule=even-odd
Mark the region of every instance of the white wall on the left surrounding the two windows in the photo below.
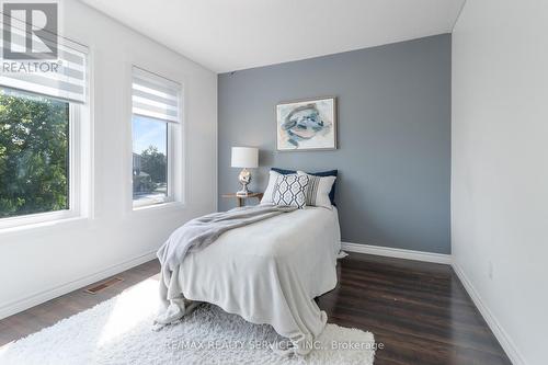
<svg viewBox="0 0 548 365">
<path fill-rule="evenodd" d="M 91 49 L 94 214 L 0 232 L 0 318 L 151 259 L 175 227 L 217 208 L 217 76 L 80 2 L 62 11 L 64 34 Z M 132 64 L 183 84 L 184 207 L 128 206 Z"/>
</svg>

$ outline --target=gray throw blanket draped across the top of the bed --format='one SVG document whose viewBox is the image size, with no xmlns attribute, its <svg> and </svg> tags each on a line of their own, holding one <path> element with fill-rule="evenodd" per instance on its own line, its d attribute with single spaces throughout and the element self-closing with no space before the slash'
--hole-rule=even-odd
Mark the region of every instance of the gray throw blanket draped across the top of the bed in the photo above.
<svg viewBox="0 0 548 365">
<path fill-rule="evenodd" d="M 165 269 L 173 272 L 186 253 L 202 250 L 224 232 L 267 219 L 283 213 L 294 212 L 295 206 L 256 205 L 212 213 L 192 219 L 178 228 L 158 250 L 157 255 Z"/>
</svg>

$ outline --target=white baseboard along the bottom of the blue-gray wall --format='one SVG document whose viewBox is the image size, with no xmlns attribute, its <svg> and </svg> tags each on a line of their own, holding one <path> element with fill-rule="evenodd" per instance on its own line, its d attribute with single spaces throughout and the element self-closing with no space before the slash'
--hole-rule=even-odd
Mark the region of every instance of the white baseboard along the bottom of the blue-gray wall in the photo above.
<svg viewBox="0 0 548 365">
<path fill-rule="evenodd" d="M 446 265 L 449 265 L 452 262 L 450 254 L 443 254 L 443 253 L 393 249 L 388 247 L 350 243 L 350 242 L 342 242 L 341 247 L 344 251 L 375 254 L 379 256 L 434 262 Z"/>
</svg>

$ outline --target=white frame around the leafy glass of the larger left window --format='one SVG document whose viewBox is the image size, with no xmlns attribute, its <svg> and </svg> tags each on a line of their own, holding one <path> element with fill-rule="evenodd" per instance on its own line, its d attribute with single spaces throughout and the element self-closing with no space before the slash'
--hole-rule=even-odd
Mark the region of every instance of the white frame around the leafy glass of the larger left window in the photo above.
<svg viewBox="0 0 548 365">
<path fill-rule="evenodd" d="M 0 88 L 9 87 L 0 85 Z M 23 92 L 36 94 L 28 91 Z M 87 122 L 87 117 L 84 115 L 84 113 L 87 112 L 87 106 L 70 101 L 65 102 L 69 103 L 69 208 L 0 218 L 0 231 L 57 220 L 75 219 L 84 216 L 84 212 L 82 209 L 82 192 L 84 190 L 84 185 L 82 184 L 82 176 L 85 175 L 85 164 L 82 163 L 82 156 L 84 155 L 82 150 L 82 147 L 84 145 L 82 144 L 82 130 L 84 130 L 85 128 L 82 124 Z"/>
</svg>

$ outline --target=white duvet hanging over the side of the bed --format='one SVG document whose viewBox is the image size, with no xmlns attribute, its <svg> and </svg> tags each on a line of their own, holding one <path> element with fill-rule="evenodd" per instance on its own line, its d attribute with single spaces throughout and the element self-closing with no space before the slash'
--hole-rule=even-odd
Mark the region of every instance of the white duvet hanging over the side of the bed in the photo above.
<svg viewBox="0 0 548 365">
<path fill-rule="evenodd" d="M 340 242 L 336 208 L 307 207 L 236 228 L 189 253 L 163 299 L 180 295 L 269 323 L 306 354 L 327 322 L 313 298 L 336 285 Z"/>
</svg>

